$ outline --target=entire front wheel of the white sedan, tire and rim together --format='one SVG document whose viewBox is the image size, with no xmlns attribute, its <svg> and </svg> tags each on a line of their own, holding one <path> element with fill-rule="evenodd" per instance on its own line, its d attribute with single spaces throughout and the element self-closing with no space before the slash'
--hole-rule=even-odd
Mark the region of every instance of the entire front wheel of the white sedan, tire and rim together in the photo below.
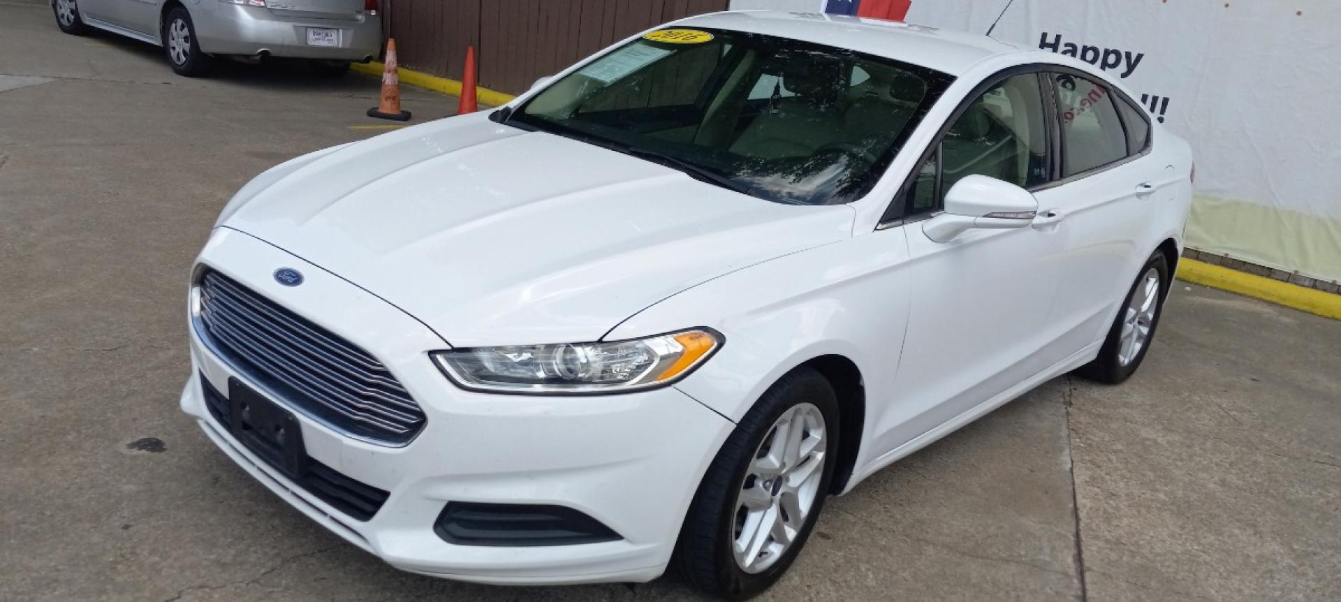
<svg viewBox="0 0 1341 602">
<path fill-rule="evenodd" d="M 685 516 L 676 566 L 696 587 L 750 598 L 772 586 L 825 505 L 838 453 L 838 401 L 818 371 L 794 370 L 727 437 Z"/>
</svg>

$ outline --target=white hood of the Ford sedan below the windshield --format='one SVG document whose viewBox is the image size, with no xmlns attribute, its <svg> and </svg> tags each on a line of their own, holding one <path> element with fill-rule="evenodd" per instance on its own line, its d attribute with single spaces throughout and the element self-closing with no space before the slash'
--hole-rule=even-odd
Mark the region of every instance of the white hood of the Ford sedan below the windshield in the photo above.
<svg viewBox="0 0 1341 602">
<path fill-rule="evenodd" d="M 244 188 L 249 198 L 221 225 L 386 299 L 457 347 L 595 341 L 695 284 L 852 235 L 845 205 L 748 197 L 483 114 L 286 169 Z"/>
</svg>

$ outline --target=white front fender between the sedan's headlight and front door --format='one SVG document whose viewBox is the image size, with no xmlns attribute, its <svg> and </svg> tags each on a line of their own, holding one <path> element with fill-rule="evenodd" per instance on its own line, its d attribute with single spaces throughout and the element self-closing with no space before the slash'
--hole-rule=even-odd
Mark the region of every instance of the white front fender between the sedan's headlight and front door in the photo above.
<svg viewBox="0 0 1341 602">
<path fill-rule="evenodd" d="M 889 400 L 907 330 L 908 244 L 902 228 L 786 255 L 685 290 L 618 324 L 605 339 L 689 326 L 723 334 L 721 350 L 676 385 L 739 421 L 778 378 L 821 355 L 842 355 L 862 374 L 862 436 L 893 410 Z M 857 465 L 866 455 L 862 449 Z"/>
</svg>

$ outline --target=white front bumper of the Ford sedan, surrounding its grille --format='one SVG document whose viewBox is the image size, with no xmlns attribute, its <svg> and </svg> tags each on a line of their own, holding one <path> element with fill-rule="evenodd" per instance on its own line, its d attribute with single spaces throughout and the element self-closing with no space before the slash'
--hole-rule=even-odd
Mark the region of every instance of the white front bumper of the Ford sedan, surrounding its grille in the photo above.
<svg viewBox="0 0 1341 602">
<path fill-rule="evenodd" d="M 200 261 L 366 349 L 422 406 L 424 429 L 400 448 L 342 436 L 295 412 L 308 456 L 390 493 L 359 522 L 287 480 L 211 416 L 201 378 L 220 392 L 229 378 L 255 383 L 192 330 L 182 410 L 271 491 L 398 568 L 485 583 L 650 581 L 665 570 L 699 480 L 734 426 L 673 387 L 609 397 L 465 392 L 429 361 L 428 351 L 445 345 L 428 327 L 315 265 L 228 229 L 216 231 Z M 270 274 L 282 265 L 307 280 L 295 288 L 275 283 Z M 563 505 L 622 539 L 451 544 L 433 531 L 448 501 Z"/>
</svg>

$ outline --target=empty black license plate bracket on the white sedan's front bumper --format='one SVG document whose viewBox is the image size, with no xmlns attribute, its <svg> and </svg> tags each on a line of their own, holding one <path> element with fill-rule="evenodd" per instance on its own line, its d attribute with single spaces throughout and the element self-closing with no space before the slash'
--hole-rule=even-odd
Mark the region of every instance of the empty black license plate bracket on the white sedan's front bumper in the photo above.
<svg viewBox="0 0 1341 602">
<path fill-rule="evenodd" d="M 233 438 L 292 480 L 307 473 L 307 449 L 298 417 L 236 378 L 228 379 Z"/>
</svg>

